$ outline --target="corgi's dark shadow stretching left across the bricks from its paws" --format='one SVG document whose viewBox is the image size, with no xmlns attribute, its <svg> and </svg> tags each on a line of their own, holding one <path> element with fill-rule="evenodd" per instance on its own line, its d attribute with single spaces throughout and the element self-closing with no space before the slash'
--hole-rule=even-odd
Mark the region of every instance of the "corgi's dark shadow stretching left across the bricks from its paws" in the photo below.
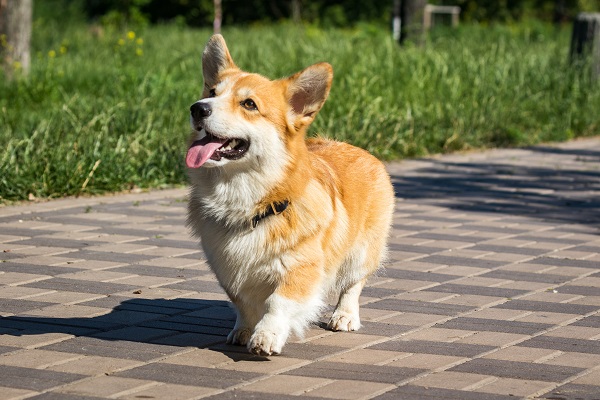
<svg viewBox="0 0 600 400">
<path fill-rule="evenodd" d="M 148 348 L 148 344 L 160 348 L 197 347 L 220 351 L 234 361 L 264 360 L 248 354 L 245 347 L 226 344 L 234 323 L 235 312 L 226 301 L 125 299 L 109 313 L 94 317 L 0 317 L 0 333 L 13 336 L 64 333 L 75 336 L 72 340 L 82 344 L 102 342 L 113 349 Z M 66 342 L 63 345 L 68 346 Z"/>
</svg>

